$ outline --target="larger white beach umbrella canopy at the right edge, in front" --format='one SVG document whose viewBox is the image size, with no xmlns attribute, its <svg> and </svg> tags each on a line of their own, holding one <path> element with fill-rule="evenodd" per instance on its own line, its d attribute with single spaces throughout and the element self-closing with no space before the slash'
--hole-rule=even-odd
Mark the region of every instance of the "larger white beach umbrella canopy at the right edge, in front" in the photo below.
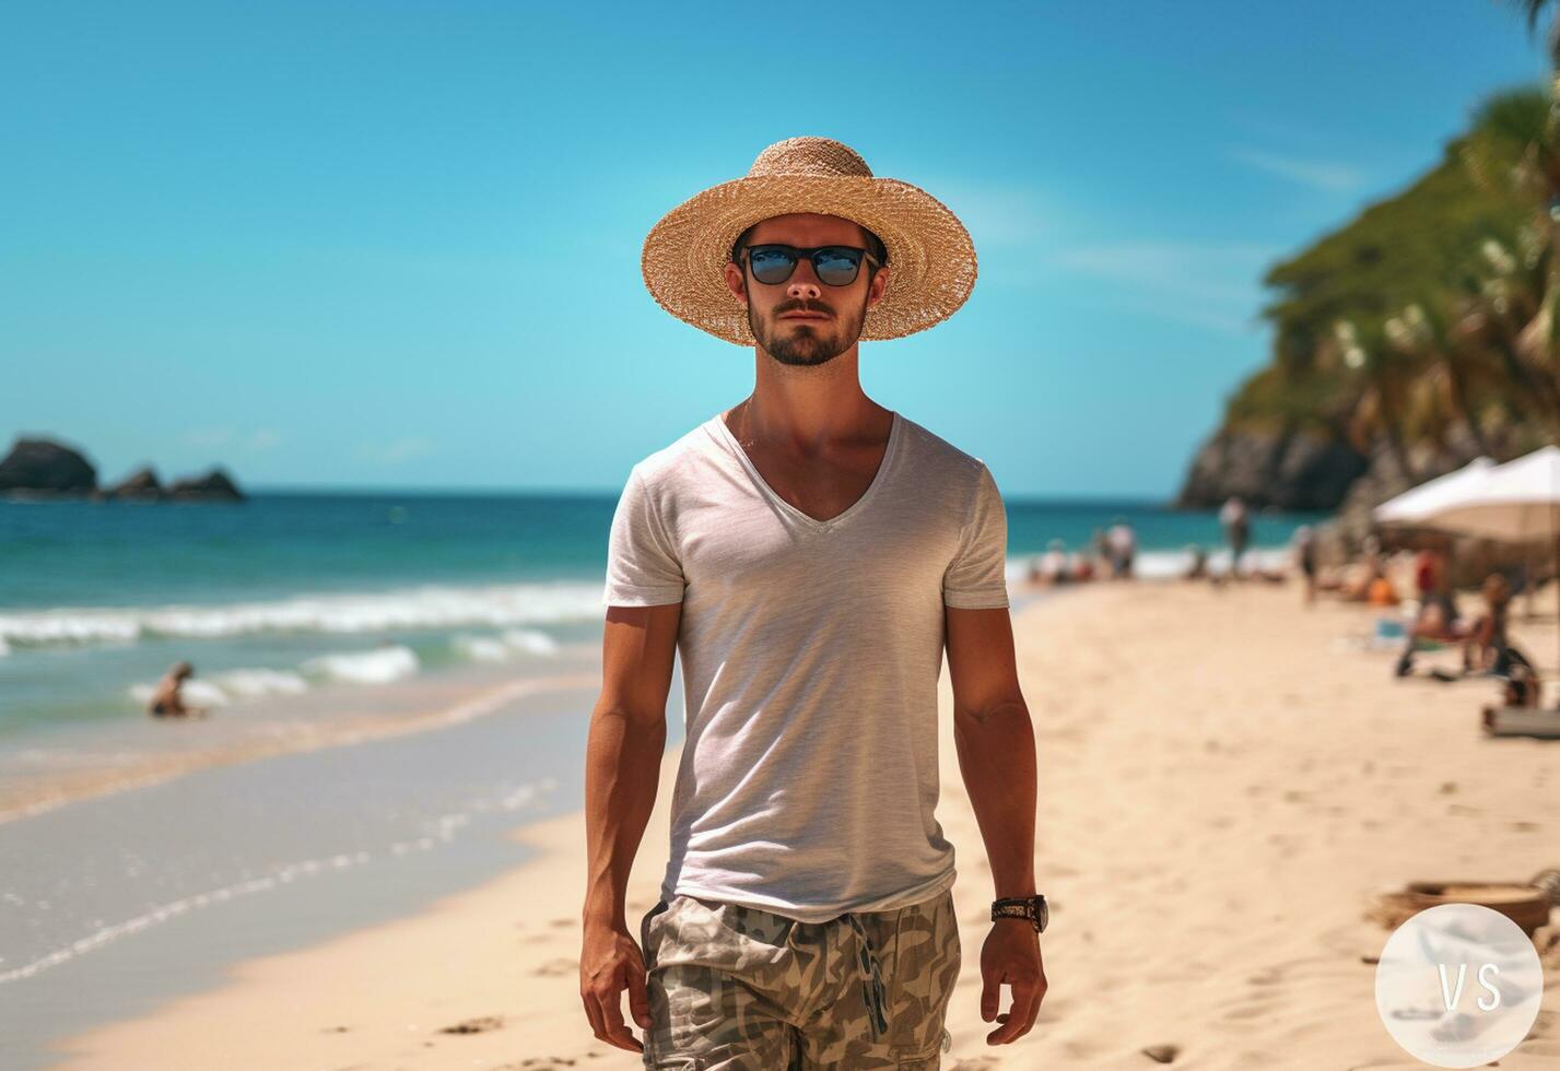
<svg viewBox="0 0 1560 1071">
<path fill-rule="evenodd" d="M 1543 539 L 1555 549 L 1560 566 L 1560 447 L 1546 446 L 1485 469 L 1463 482 L 1459 494 L 1441 499 L 1420 524 L 1504 543 Z"/>
</svg>

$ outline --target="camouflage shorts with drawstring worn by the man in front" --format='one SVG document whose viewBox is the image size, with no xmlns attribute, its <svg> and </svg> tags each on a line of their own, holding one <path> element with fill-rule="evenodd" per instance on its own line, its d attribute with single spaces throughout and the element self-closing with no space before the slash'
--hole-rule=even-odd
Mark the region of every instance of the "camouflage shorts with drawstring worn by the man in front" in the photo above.
<svg viewBox="0 0 1560 1071">
<path fill-rule="evenodd" d="M 646 1068 L 934 1071 L 959 974 L 953 893 L 800 923 L 694 896 L 640 923 Z"/>
</svg>

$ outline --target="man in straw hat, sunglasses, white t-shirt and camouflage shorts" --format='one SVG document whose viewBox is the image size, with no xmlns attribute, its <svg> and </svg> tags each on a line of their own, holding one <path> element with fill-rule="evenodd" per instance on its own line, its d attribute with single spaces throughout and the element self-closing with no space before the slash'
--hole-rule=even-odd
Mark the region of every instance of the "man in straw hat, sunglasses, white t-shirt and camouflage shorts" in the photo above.
<svg viewBox="0 0 1560 1071">
<path fill-rule="evenodd" d="M 998 898 L 981 1015 L 1000 1023 L 987 1041 L 1014 1041 L 1045 993 L 1045 914 L 1003 504 L 981 461 L 858 377 L 860 338 L 964 302 L 969 234 L 846 145 L 799 137 L 668 214 L 643 268 L 665 309 L 753 346 L 757 380 L 633 466 L 613 519 L 585 776 L 591 1029 L 651 1068 L 939 1066 L 961 960 L 933 815 L 945 645 Z M 624 890 L 677 652 L 671 859 L 636 943 Z"/>
</svg>

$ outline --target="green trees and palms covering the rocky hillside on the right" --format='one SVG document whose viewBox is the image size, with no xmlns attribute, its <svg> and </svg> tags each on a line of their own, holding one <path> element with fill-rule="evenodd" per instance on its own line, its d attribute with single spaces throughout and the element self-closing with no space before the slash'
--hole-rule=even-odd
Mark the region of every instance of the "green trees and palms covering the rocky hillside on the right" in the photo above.
<svg viewBox="0 0 1560 1071">
<path fill-rule="evenodd" d="M 1229 399 L 1226 430 L 1368 452 L 1560 416 L 1533 396 L 1560 401 L 1549 340 L 1523 337 L 1549 268 L 1548 184 L 1532 175 L 1548 111 L 1538 89 L 1490 100 L 1437 167 L 1275 265 L 1273 357 Z"/>
</svg>

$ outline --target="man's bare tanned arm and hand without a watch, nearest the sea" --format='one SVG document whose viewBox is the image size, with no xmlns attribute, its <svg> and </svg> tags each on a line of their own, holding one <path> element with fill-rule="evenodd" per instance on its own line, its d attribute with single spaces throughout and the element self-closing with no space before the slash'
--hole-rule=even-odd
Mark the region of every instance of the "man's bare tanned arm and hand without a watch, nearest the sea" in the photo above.
<svg viewBox="0 0 1560 1071">
<path fill-rule="evenodd" d="M 644 956 L 629 932 L 626 890 L 633 856 L 655 806 L 666 750 L 666 694 L 682 603 L 612 606 L 602 638 L 602 689 L 585 744 L 585 909 L 580 999 L 597 1038 L 633 1052 L 644 1046 L 622 1021 L 622 991 L 649 1024 Z"/>
</svg>

